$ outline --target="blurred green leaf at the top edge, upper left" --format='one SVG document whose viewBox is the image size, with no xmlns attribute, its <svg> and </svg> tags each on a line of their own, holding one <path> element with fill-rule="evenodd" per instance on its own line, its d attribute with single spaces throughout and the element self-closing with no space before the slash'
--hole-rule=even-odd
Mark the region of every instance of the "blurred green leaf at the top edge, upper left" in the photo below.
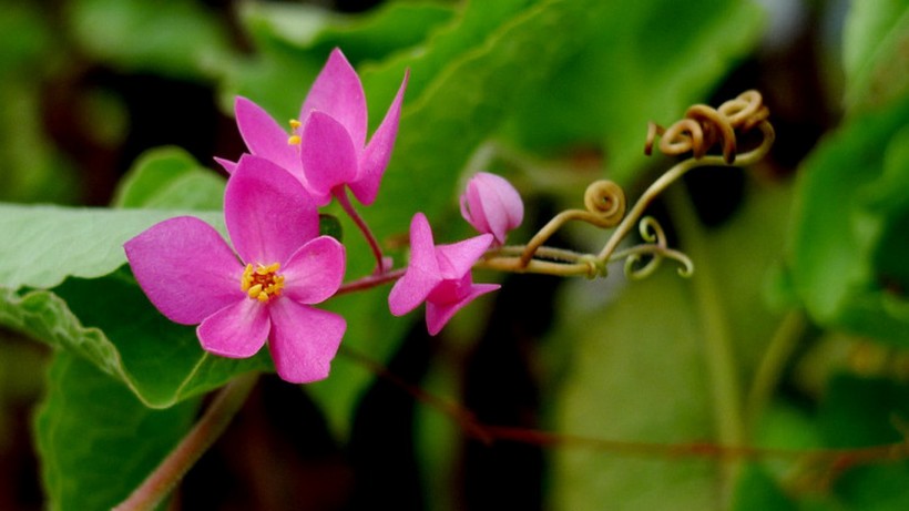
<svg viewBox="0 0 909 511">
<path fill-rule="evenodd" d="M 68 8 L 81 50 L 126 71 L 207 79 L 231 53 L 224 21 L 194 0 L 79 0 Z"/>
</svg>

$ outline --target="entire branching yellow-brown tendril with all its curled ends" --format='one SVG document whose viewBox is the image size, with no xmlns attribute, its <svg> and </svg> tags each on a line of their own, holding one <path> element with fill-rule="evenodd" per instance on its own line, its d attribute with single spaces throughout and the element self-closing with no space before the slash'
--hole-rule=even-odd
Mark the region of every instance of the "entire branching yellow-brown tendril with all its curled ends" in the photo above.
<svg viewBox="0 0 909 511">
<path fill-rule="evenodd" d="M 676 163 L 651 183 L 630 208 L 617 184 L 610 181 L 592 183 L 584 193 L 585 209 L 559 213 L 527 245 L 496 247 L 477 266 L 594 278 L 605 276 L 610 263 L 624 259 L 625 274 L 636 279 L 653 274 L 663 259 L 673 259 L 680 264 L 680 275 L 691 276 L 694 263 L 684 253 L 668 248 L 663 228 L 654 218 L 644 216 L 644 212 L 657 195 L 692 168 L 750 165 L 764 157 L 775 139 L 768 116 L 769 111 L 763 104 L 760 93 L 746 91 L 717 109 L 695 104 L 688 108 L 684 119 L 667 129 L 651 123 L 644 147 L 646 154 L 651 154 L 660 136 L 661 152 L 666 155 L 691 153 L 691 157 Z M 760 143 L 748 151 L 741 151 L 737 137 L 755 129 L 762 134 Z M 722 156 L 708 154 L 717 145 Z M 580 254 L 543 245 L 565 223 L 575 219 L 601 228 L 615 228 L 599 254 Z M 635 224 L 645 243 L 619 251 L 619 245 Z"/>
</svg>

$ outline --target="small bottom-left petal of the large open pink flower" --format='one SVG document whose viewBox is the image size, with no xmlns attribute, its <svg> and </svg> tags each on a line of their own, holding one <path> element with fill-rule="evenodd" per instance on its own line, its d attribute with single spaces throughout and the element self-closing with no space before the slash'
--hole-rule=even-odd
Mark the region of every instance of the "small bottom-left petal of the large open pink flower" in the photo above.
<svg viewBox="0 0 909 511">
<path fill-rule="evenodd" d="M 244 297 L 208 316 L 196 328 L 196 335 L 206 351 L 222 357 L 248 358 L 265 344 L 270 328 L 267 307 Z"/>
</svg>

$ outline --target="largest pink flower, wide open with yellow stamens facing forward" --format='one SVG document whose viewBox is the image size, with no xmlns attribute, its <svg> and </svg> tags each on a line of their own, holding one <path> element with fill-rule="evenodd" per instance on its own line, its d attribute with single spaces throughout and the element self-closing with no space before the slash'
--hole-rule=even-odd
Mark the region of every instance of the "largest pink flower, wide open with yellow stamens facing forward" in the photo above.
<svg viewBox="0 0 909 511">
<path fill-rule="evenodd" d="M 267 339 L 285 380 L 327 377 L 347 324 L 310 305 L 340 286 L 344 246 L 318 235 L 316 206 L 300 183 L 255 156 L 243 156 L 227 182 L 224 215 L 236 254 L 192 216 L 126 242 L 139 285 L 168 319 L 198 324 L 210 352 L 246 358 Z"/>
</svg>

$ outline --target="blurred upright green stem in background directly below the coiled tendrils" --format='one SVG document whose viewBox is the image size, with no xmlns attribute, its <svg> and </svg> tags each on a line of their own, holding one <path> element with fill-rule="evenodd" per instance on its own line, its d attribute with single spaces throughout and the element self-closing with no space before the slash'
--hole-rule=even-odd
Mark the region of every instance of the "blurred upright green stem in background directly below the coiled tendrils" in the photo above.
<svg viewBox="0 0 909 511">
<path fill-rule="evenodd" d="M 711 268 L 705 235 L 684 191 L 671 190 L 667 202 L 685 253 L 697 262 L 692 292 L 704 330 L 704 349 L 718 440 L 723 446 L 743 446 L 745 423 L 732 333 L 723 307 L 723 296 Z M 738 462 L 726 462 L 721 467 L 721 494 L 724 501 L 728 501 L 731 497 L 738 466 Z"/>
</svg>

